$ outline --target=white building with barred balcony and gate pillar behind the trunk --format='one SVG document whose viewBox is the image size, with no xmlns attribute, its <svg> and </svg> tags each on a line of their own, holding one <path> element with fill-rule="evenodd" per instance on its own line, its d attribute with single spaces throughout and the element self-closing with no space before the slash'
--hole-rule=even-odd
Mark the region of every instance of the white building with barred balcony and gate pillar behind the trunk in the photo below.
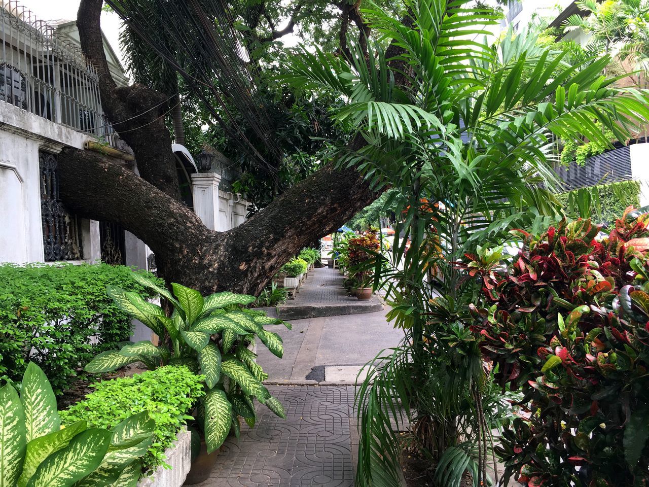
<svg viewBox="0 0 649 487">
<path fill-rule="evenodd" d="M 127 77 L 104 37 L 118 84 Z M 97 72 L 80 51 L 74 21 L 47 25 L 15 0 L 0 0 L 0 262 L 97 262 L 147 268 L 146 245 L 114 223 L 77 218 L 58 196 L 57 155 L 88 142 L 122 149 L 104 117 Z M 173 145 L 185 202 L 211 229 L 241 223 L 247 203 L 217 173 L 198 173 L 190 153 Z M 221 187 L 219 188 L 219 183 Z M 149 267 L 153 266 L 149 259 Z"/>
</svg>

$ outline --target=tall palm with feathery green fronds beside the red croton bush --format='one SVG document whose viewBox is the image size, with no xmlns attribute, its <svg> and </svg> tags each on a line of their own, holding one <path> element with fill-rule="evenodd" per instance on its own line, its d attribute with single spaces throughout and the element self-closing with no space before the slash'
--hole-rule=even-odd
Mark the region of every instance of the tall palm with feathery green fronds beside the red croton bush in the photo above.
<svg viewBox="0 0 649 487">
<path fill-rule="evenodd" d="M 601 75 L 608 56 L 571 65 L 565 52 L 511 33 L 489 45 L 497 18 L 468 0 L 407 6 L 403 20 L 363 12 L 382 35 L 369 56 L 353 43 L 350 62 L 302 48 L 284 80 L 345 101 L 332 117 L 362 142 L 329 155 L 374 188 L 399 190 L 386 205 L 397 203 L 397 235 L 411 239 L 376 256 L 375 284 L 383 280 L 405 338 L 369 364 L 358 393 L 356 484 L 397 484 L 398 432 L 410 429 L 437 465 L 436 482 L 459 485 L 471 471 L 478 485 L 503 410 L 469 331 L 480 284 L 454 262 L 476 247 L 498 260 L 479 245 L 557 218 L 556 200 L 537 184 L 554 184 L 554 138 L 609 144 L 598 121 L 624 140 L 648 118 L 649 94 Z"/>
</svg>

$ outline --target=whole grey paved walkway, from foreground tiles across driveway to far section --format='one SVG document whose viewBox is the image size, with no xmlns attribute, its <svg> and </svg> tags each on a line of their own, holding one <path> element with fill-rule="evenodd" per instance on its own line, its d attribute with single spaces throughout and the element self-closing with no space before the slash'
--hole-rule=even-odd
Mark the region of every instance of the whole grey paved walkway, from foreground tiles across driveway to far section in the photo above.
<svg viewBox="0 0 649 487">
<path fill-rule="evenodd" d="M 326 269 L 319 275 L 319 281 L 309 279 L 327 288 L 338 273 Z M 334 299 L 329 290 L 304 289 L 297 302 Z M 290 320 L 292 331 L 271 327 L 284 340 L 284 357 L 260 344 L 258 363 L 269 374 L 267 387 L 284 405 L 287 419 L 258 405 L 255 427 L 244 424 L 240 440 L 228 438 L 211 478 L 199 487 L 353 487 L 356 374 L 403 337 L 387 323 L 386 311 Z"/>
</svg>

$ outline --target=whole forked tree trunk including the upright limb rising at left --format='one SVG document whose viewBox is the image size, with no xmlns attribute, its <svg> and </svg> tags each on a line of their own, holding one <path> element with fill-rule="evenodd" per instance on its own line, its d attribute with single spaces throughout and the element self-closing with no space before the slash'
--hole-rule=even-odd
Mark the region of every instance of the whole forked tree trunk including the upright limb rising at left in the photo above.
<svg viewBox="0 0 649 487">
<path fill-rule="evenodd" d="M 60 194 L 78 214 L 120 223 L 147 243 L 167 282 L 203 293 L 258 295 L 301 247 L 338 229 L 376 199 L 357 171 L 326 166 L 239 227 L 207 229 L 180 203 L 164 124 L 167 97 L 140 84 L 117 87 L 110 77 L 99 27 L 102 1 L 81 1 L 80 41 L 100 73 L 104 111 L 132 147 L 141 177 L 99 154 L 68 148 L 59 158 Z"/>
</svg>

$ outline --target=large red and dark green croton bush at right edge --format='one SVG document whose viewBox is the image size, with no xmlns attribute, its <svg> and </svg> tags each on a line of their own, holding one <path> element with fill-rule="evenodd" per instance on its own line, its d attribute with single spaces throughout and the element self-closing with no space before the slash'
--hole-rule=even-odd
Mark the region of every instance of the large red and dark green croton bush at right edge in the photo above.
<svg viewBox="0 0 649 487">
<path fill-rule="evenodd" d="M 587 219 L 522 232 L 506 268 L 467 255 L 483 282 L 472 330 L 520 415 L 496 447 L 506 478 L 535 486 L 649 485 L 649 216 L 607 238 Z"/>
</svg>

